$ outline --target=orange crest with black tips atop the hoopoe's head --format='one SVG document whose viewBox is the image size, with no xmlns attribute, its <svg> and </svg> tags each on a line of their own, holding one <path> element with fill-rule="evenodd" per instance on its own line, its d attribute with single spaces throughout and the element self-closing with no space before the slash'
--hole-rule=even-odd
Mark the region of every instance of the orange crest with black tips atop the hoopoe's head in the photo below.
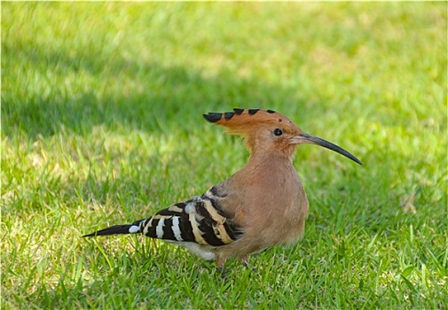
<svg viewBox="0 0 448 310">
<path fill-rule="evenodd" d="M 291 123 L 285 115 L 272 110 L 233 109 L 233 112 L 203 114 L 204 119 L 217 125 L 229 128 L 233 134 L 248 133 L 251 129 L 267 124 Z"/>
</svg>

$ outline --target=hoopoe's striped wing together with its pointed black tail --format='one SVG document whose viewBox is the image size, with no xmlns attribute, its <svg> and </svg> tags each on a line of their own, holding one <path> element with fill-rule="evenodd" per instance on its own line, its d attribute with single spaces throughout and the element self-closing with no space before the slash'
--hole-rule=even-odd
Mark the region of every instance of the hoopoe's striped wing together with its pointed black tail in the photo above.
<svg viewBox="0 0 448 310">
<path fill-rule="evenodd" d="M 153 216 L 129 225 L 115 225 L 85 236 L 141 233 L 152 238 L 184 245 L 204 259 L 213 260 L 209 250 L 237 240 L 242 231 L 219 204 L 221 195 L 211 188 L 200 197 L 162 209 Z"/>
</svg>

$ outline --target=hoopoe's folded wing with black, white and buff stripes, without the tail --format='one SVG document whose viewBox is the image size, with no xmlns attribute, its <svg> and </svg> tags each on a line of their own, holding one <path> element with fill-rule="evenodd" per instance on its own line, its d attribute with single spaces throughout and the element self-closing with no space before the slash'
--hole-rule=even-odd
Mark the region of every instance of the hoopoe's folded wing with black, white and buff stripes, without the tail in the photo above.
<svg viewBox="0 0 448 310">
<path fill-rule="evenodd" d="M 241 235 L 240 229 L 220 207 L 213 188 L 204 195 L 170 205 L 141 221 L 139 230 L 145 236 L 177 242 L 221 246 Z"/>
</svg>

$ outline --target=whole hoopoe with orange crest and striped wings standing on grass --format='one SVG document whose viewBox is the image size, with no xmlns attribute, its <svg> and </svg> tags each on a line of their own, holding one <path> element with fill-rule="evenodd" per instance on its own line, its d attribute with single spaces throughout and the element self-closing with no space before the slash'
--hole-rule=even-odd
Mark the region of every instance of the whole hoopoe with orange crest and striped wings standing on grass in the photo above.
<svg viewBox="0 0 448 310">
<path fill-rule="evenodd" d="M 334 143 L 305 134 L 279 112 L 233 109 L 203 116 L 246 138 L 246 167 L 199 197 L 85 236 L 143 234 L 180 244 L 205 260 L 216 260 L 224 276 L 226 260 L 238 258 L 247 265 L 250 254 L 294 244 L 303 236 L 309 204 L 292 162 L 298 144 L 317 144 L 362 165 Z"/>
</svg>

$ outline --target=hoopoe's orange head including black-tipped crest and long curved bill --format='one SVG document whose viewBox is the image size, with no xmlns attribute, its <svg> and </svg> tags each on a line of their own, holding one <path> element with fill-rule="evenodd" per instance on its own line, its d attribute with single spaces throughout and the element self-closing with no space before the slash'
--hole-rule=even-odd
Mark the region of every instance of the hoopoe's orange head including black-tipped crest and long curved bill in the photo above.
<svg viewBox="0 0 448 310">
<path fill-rule="evenodd" d="M 336 151 L 362 165 L 350 152 L 317 136 L 305 134 L 285 115 L 272 110 L 233 109 L 233 112 L 210 112 L 204 118 L 228 128 L 228 132 L 244 136 L 252 154 L 276 153 L 292 158 L 297 144 L 310 143 Z"/>
</svg>

